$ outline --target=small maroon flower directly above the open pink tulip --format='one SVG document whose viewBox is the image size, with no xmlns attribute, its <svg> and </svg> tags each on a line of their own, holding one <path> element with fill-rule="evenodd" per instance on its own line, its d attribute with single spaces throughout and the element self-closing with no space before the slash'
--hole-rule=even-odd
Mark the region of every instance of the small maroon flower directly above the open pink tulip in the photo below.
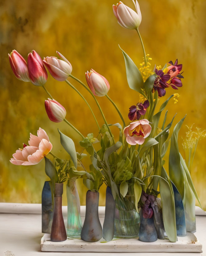
<svg viewBox="0 0 206 256">
<path fill-rule="evenodd" d="M 128 114 L 128 118 L 131 121 L 134 120 L 139 120 L 139 118 L 141 117 L 141 115 L 145 115 L 148 106 L 150 106 L 150 103 L 148 100 L 146 100 L 143 104 L 142 102 L 137 103 L 137 105 L 133 105 L 129 108 L 129 114 Z"/>
</svg>

